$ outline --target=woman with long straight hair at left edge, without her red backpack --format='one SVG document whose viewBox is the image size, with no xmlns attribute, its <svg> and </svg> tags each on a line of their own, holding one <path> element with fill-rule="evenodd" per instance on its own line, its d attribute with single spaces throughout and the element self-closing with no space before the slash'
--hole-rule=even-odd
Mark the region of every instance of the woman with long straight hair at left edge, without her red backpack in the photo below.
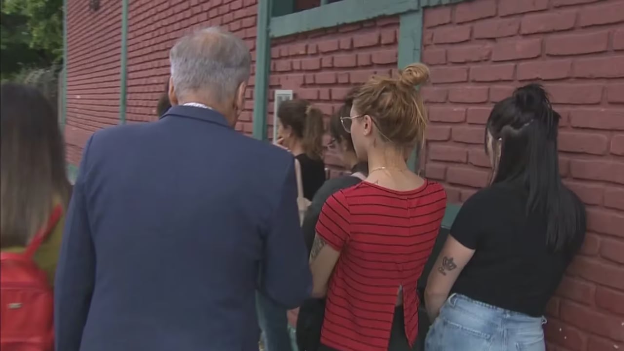
<svg viewBox="0 0 624 351">
<path fill-rule="evenodd" d="M 0 249 L 21 252 L 48 222 L 56 205 L 67 208 L 71 185 L 57 116 L 34 87 L 0 87 Z M 64 220 L 34 254 L 54 284 Z"/>
</svg>

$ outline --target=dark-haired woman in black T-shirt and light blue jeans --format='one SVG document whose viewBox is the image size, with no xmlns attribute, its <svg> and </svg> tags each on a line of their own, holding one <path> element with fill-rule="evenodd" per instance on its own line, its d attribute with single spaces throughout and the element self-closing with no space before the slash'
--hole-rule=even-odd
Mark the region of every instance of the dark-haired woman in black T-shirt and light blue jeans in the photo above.
<svg viewBox="0 0 624 351">
<path fill-rule="evenodd" d="M 537 84 L 492 109 L 492 184 L 462 206 L 429 275 L 427 351 L 545 350 L 546 304 L 586 229 L 559 174 L 559 119 Z"/>
</svg>

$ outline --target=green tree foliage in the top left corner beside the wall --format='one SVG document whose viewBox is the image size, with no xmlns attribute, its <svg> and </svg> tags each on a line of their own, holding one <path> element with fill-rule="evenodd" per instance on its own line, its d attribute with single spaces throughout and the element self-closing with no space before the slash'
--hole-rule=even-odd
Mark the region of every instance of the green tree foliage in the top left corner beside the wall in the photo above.
<svg viewBox="0 0 624 351">
<path fill-rule="evenodd" d="M 2 80 L 62 61 L 62 0 L 0 1 Z"/>
</svg>

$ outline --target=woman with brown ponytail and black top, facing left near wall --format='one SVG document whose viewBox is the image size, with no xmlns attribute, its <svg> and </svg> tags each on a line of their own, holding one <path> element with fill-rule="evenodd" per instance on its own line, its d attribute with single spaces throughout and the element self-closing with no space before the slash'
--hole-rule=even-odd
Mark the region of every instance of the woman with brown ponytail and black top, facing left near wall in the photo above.
<svg viewBox="0 0 624 351">
<path fill-rule="evenodd" d="M 303 195 L 312 200 L 325 181 L 323 112 L 308 101 L 284 101 L 277 111 L 278 144 L 290 150 L 301 165 Z"/>
</svg>

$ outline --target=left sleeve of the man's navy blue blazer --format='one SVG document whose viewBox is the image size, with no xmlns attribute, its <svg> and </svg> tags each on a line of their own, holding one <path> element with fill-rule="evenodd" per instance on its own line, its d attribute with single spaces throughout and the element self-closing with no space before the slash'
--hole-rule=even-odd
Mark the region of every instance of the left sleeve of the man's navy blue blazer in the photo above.
<svg viewBox="0 0 624 351">
<path fill-rule="evenodd" d="M 94 287 L 95 250 L 91 239 L 85 182 L 89 150 L 85 146 L 79 174 L 69 202 L 54 284 L 55 350 L 78 351 Z"/>
</svg>

